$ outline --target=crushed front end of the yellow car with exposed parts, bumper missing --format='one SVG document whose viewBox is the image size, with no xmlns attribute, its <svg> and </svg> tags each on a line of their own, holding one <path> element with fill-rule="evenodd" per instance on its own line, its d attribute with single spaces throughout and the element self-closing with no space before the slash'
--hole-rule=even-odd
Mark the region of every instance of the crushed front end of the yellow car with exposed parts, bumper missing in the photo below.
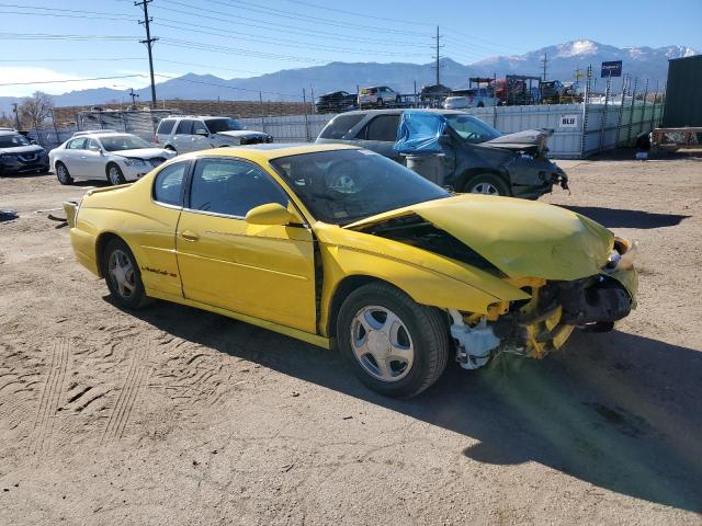
<svg viewBox="0 0 702 526">
<path fill-rule="evenodd" d="M 618 238 L 602 272 L 582 279 L 508 279 L 531 298 L 494 304 L 487 315 L 449 310 L 457 362 L 475 369 L 499 353 L 543 358 L 575 329 L 612 330 L 636 308 L 635 249 Z"/>
</svg>

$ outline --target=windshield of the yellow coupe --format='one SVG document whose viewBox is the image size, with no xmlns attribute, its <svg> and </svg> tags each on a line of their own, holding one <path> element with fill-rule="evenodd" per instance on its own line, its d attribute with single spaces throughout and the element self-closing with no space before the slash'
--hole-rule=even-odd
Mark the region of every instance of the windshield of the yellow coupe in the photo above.
<svg viewBox="0 0 702 526">
<path fill-rule="evenodd" d="M 271 161 L 320 221 L 348 225 L 449 193 L 370 150 L 333 150 Z"/>
</svg>

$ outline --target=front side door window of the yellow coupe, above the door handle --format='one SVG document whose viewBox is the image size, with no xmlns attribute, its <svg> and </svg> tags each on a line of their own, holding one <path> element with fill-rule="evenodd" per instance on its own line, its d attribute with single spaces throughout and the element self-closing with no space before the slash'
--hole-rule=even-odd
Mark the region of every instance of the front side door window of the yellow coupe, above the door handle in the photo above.
<svg viewBox="0 0 702 526">
<path fill-rule="evenodd" d="M 288 205 L 287 194 L 259 167 L 235 159 L 200 159 L 190 191 L 190 208 L 242 218 L 269 203 Z"/>
</svg>

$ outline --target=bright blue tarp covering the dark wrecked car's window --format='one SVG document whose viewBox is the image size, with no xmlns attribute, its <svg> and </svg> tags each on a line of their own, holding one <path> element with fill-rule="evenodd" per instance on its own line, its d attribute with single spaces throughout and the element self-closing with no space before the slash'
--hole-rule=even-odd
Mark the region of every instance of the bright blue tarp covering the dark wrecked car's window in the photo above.
<svg viewBox="0 0 702 526">
<path fill-rule="evenodd" d="M 439 113 L 407 110 L 397 128 L 393 149 L 399 153 L 441 153 L 439 144 L 446 129 L 446 117 Z"/>
</svg>

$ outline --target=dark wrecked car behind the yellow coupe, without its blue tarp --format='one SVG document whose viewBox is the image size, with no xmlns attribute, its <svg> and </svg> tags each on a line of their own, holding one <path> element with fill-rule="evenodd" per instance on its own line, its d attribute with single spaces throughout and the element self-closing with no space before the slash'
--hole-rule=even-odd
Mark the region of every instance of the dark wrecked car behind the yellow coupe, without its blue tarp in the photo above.
<svg viewBox="0 0 702 526">
<path fill-rule="evenodd" d="M 455 192 L 536 199 L 554 184 L 568 187 L 568 176 L 547 158 L 551 130 L 531 129 L 502 135 L 473 115 L 455 110 L 422 110 L 446 117 L 441 140 L 442 185 Z M 404 110 L 348 112 L 332 118 L 317 142 L 361 146 L 398 162 L 395 149 Z"/>
</svg>

